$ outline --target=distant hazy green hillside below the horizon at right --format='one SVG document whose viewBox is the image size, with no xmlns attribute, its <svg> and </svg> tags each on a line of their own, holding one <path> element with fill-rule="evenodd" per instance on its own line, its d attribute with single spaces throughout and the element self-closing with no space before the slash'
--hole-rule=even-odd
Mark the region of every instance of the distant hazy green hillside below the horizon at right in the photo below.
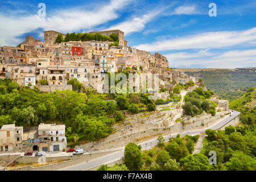
<svg viewBox="0 0 256 182">
<path fill-rule="evenodd" d="M 236 100 L 247 88 L 256 86 L 256 68 L 188 70 L 184 73 L 203 78 L 207 88 L 213 90 L 221 99 L 229 101 Z"/>
</svg>

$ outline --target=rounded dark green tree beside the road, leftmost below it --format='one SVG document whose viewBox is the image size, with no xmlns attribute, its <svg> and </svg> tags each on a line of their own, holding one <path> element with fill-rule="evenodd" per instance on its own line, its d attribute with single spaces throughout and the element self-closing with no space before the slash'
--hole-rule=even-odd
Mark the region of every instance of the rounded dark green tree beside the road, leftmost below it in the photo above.
<svg viewBox="0 0 256 182">
<path fill-rule="evenodd" d="M 129 143 L 125 147 L 125 165 L 130 170 L 138 171 L 143 166 L 143 154 L 141 146 L 135 143 Z"/>
</svg>

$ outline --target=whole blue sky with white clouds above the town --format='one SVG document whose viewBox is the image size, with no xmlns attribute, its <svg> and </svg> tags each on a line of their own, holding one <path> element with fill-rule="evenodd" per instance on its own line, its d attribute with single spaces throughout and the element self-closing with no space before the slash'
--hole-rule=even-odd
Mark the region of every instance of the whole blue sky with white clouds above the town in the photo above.
<svg viewBox="0 0 256 182">
<path fill-rule="evenodd" d="M 46 4 L 46 17 L 38 4 Z M 216 3 L 217 16 L 208 7 Z M 119 29 L 129 46 L 167 56 L 172 68 L 256 67 L 256 0 L 0 1 L 0 46 L 43 32 Z"/>
</svg>

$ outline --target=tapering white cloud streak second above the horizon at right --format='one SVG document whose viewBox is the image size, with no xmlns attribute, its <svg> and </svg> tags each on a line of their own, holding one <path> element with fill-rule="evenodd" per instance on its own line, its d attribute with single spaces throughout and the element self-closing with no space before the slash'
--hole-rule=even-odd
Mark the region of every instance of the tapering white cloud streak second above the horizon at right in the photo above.
<svg viewBox="0 0 256 182">
<path fill-rule="evenodd" d="M 256 27 L 244 31 L 205 32 L 184 36 L 182 38 L 140 44 L 138 49 L 144 51 L 168 51 L 181 49 L 210 49 L 230 46 L 252 46 L 256 40 Z"/>
</svg>

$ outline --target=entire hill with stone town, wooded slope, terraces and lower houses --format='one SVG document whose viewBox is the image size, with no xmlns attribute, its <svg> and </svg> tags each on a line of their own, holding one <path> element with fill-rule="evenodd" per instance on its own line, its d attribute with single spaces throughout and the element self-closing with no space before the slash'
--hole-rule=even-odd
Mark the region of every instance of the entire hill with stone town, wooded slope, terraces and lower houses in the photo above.
<svg viewBox="0 0 256 182">
<path fill-rule="evenodd" d="M 198 134 L 189 150 L 196 154 L 205 130 L 224 130 L 240 119 L 229 101 L 220 100 L 202 80 L 169 68 L 160 53 L 128 46 L 120 30 L 46 31 L 44 43 L 27 36 L 17 47 L 1 47 L 0 53 L 0 170 L 56 170 L 79 163 L 81 170 L 93 168 L 87 163 L 92 159 L 100 161 L 98 168 L 102 156 L 107 163 L 123 163 L 123 147 L 129 143 L 147 150 L 158 145 L 159 137 L 177 134 Z M 102 94 L 97 89 L 104 73 L 156 74 L 160 91 Z M 142 82 L 141 77 L 135 84 Z M 154 101 L 147 97 L 153 94 Z M 83 155 L 71 157 L 72 151 Z M 28 166 L 39 163 L 35 156 L 40 152 L 56 164 Z"/>
</svg>

